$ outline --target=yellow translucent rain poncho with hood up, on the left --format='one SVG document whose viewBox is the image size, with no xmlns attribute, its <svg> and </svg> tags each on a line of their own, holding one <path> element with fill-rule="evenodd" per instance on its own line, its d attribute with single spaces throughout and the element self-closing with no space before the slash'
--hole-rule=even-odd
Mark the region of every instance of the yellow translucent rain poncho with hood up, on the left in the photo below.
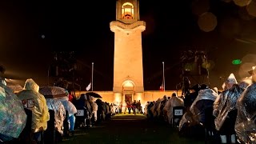
<svg viewBox="0 0 256 144">
<path fill-rule="evenodd" d="M 17 94 L 23 106 L 32 110 L 31 129 L 33 133 L 46 130 L 47 122 L 50 120 L 46 98 L 38 91 L 39 86 L 30 78 L 26 80 L 24 89 Z"/>
</svg>

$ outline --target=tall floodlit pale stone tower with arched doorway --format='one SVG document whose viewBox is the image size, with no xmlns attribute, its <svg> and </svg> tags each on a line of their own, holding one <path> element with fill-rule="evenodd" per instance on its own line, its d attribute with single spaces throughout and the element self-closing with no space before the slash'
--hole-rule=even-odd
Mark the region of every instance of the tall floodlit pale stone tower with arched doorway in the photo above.
<svg viewBox="0 0 256 144">
<path fill-rule="evenodd" d="M 117 0 L 116 21 L 110 22 L 114 32 L 114 102 L 142 100 L 142 31 L 138 0 Z"/>
</svg>

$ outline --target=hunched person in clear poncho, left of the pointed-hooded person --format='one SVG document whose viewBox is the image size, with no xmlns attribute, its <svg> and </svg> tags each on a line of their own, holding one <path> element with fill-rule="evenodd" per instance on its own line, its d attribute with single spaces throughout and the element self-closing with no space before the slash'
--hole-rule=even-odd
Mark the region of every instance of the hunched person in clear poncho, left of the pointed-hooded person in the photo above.
<svg viewBox="0 0 256 144">
<path fill-rule="evenodd" d="M 190 106 L 190 111 L 195 116 L 195 120 L 198 123 L 205 124 L 205 113 L 206 108 L 213 106 L 215 99 L 218 94 L 206 86 L 205 84 L 201 85 L 201 90 L 198 92 L 198 97 L 195 98 L 194 102 Z"/>
</svg>

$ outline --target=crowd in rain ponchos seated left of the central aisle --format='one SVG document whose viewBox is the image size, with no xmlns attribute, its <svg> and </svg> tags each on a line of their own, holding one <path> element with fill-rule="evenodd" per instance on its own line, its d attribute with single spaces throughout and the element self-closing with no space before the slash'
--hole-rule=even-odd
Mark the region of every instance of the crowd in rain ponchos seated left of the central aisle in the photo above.
<svg viewBox="0 0 256 144">
<path fill-rule="evenodd" d="M 114 106 L 88 94 L 76 98 L 60 86 L 38 86 L 32 78 L 22 90 L 6 86 L 0 72 L 0 143 L 56 143 L 115 113 Z M 82 112 L 82 113 L 79 113 Z"/>
</svg>

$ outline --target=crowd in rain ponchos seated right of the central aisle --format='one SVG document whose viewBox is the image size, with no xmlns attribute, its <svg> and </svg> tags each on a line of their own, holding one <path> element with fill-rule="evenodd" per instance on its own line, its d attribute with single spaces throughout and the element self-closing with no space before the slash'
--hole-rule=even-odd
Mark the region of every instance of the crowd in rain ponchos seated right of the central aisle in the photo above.
<svg viewBox="0 0 256 144">
<path fill-rule="evenodd" d="M 256 69 L 251 77 L 238 82 L 234 74 L 223 83 L 223 90 L 206 84 L 190 87 L 184 97 L 158 98 L 148 102 L 145 114 L 156 122 L 173 126 L 178 122 L 182 137 L 205 139 L 213 143 L 255 143 Z M 174 120 L 174 107 L 184 106 L 182 118 Z M 195 133 L 196 131 L 196 133 Z"/>
</svg>

